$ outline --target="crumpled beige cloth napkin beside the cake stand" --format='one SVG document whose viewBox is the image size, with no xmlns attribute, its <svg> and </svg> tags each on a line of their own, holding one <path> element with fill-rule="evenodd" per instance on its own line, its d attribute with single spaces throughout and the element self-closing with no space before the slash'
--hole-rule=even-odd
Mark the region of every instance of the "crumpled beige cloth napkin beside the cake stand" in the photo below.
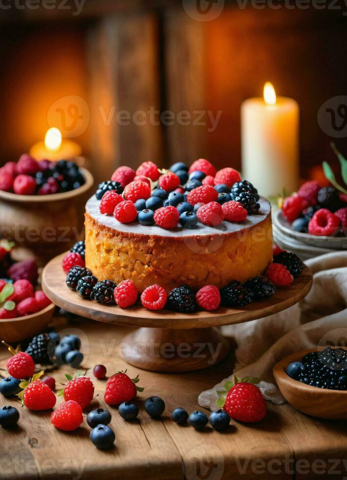
<svg viewBox="0 0 347 480">
<path fill-rule="evenodd" d="M 285 399 L 273 384 L 273 366 L 299 350 L 317 346 L 347 345 L 347 252 L 328 253 L 306 264 L 314 278 L 309 294 L 297 305 L 269 317 L 240 325 L 222 327 L 238 345 L 234 373 L 257 377 L 266 400 L 275 404 Z M 217 391 L 227 379 L 200 393 L 201 407 L 215 410 Z"/>
</svg>

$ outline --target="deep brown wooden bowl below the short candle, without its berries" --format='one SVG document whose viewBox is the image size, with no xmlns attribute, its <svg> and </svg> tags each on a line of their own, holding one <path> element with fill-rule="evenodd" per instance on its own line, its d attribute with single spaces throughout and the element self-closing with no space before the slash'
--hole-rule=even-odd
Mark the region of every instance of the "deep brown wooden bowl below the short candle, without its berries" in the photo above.
<svg viewBox="0 0 347 480">
<path fill-rule="evenodd" d="M 80 167 L 85 184 L 52 195 L 17 195 L 0 190 L 0 233 L 28 248 L 40 265 L 69 249 L 83 232 L 84 207 L 93 175 Z"/>
</svg>

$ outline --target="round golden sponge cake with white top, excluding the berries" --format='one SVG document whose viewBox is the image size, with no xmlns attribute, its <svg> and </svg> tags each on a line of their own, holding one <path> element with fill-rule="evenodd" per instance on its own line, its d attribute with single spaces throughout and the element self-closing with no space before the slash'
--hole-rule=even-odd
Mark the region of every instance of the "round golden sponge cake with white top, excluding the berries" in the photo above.
<svg viewBox="0 0 347 480">
<path fill-rule="evenodd" d="M 271 206 L 265 198 L 259 203 L 259 213 L 241 223 L 165 230 L 101 215 L 94 195 L 86 204 L 86 266 L 99 280 L 131 279 L 140 292 L 156 283 L 170 291 L 183 284 L 198 290 L 246 282 L 262 275 L 273 258 Z"/>
</svg>

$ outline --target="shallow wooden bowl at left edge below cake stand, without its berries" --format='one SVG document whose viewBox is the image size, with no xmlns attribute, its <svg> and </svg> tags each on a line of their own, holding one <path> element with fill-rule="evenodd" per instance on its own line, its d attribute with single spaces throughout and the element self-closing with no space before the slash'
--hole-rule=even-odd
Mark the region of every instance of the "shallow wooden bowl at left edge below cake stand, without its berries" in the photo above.
<svg viewBox="0 0 347 480">
<path fill-rule="evenodd" d="M 45 309 L 24 317 L 0 320 L 0 340 L 17 343 L 41 333 L 49 324 L 55 305 L 52 303 Z"/>
</svg>

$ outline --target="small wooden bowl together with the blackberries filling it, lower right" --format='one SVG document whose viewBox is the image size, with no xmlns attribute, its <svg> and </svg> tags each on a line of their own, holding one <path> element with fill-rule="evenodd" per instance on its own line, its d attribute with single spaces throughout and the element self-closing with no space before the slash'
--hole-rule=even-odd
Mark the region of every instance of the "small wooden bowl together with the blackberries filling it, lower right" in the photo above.
<svg viewBox="0 0 347 480">
<path fill-rule="evenodd" d="M 297 352 L 276 363 L 273 376 L 297 410 L 320 418 L 347 418 L 346 347 Z"/>
</svg>

